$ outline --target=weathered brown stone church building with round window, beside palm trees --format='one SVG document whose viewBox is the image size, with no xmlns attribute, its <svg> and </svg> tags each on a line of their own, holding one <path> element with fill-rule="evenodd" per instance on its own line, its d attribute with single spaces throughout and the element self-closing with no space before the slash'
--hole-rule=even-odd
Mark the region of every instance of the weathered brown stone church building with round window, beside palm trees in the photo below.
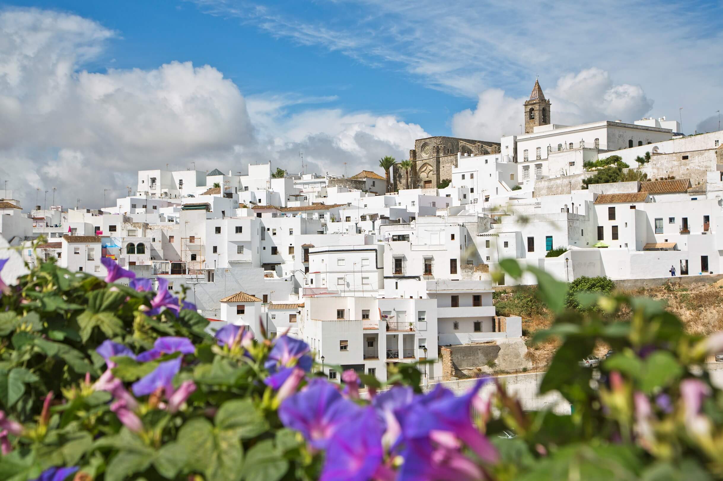
<svg viewBox="0 0 723 481">
<path fill-rule="evenodd" d="M 437 188 L 442 180 L 451 179 L 452 167 L 458 167 L 458 153 L 477 156 L 499 152 L 499 142 L 442 136 L 418 138 L 414 141 L 414 149 L 409 151 L 412 167 L 408 172 L 408 187 Z M 407 188 L 407 172 L 399 164 L 393 167 L 393 178 L 397 190 Z"/>
</svg>

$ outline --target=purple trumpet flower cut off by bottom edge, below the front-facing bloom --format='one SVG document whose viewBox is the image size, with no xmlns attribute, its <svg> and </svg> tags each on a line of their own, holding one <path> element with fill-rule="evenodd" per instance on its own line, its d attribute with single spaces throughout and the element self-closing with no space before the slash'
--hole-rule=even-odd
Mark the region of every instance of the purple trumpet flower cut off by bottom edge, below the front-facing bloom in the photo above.
<svg viewBox="0 0 723 481">
<path fill-rule="evenodd" d="M 367 481 L 382 467 L 383 456 L 382 425 L 374 408 L 366 407 L 331 437 L 320 481 Z"/>
</svg>

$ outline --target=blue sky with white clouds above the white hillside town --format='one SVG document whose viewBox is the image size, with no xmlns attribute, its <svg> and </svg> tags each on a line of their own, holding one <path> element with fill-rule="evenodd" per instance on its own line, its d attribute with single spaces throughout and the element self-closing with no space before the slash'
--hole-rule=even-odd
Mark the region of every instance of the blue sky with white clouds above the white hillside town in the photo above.
<svg viewBox="0 0 723 481">
<path fill-rule="evenodd" d="M 377 169 L 415 138 L 552 121 L 717 127 L 723 3 L 573 0 L 0 4 L 0 181 L 123 195 L 137 169 Z M 26 169 L 9 169 L 18 162 Z M 350 172 L 351 173 L 351 172 Z M 27 188 L 29 186 L 29 188 Z M 102 189 L 85 194 L 89 206 Z M 25 203 L 30 203 L 25 198 Z"/>
</svg>

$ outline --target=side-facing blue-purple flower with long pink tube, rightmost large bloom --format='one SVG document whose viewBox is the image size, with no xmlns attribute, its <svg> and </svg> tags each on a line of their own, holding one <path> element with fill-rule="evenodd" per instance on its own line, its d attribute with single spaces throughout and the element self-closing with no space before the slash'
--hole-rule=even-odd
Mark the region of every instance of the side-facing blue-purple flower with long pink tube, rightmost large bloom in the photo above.
<svg viewBox="0 0 723 481">
<path fill-rule="evenodd" d="M 432 431 L 455 433 L 480 459 L 497 462 L 497 450 L 477 431 L 471 421 L 471 403 L 488 378 L 479 379 L 467 394 L 456 397 L 432 392 L 433 399 L 412 404 L 403 417 L 402 434 L 406 441 L 429 438 Z M 437 389 L 435 389 L 437 391 Z M 451 393 L 450 393 L 451 394 Z"/>
</svg>

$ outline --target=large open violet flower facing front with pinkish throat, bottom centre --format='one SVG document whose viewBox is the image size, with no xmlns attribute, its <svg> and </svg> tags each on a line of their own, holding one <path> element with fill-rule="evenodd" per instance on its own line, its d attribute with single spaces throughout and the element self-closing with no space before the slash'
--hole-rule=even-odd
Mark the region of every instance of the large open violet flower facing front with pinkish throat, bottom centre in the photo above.
<svg viewBox="0 0 723 481">
<path fill-rule="evenodd" d="M 333 384 L 318 378 L 278 409 L 283 425 L 299 431 L 317 449 L 326 449 L 339 425 L 360 413 L 361 408 L 344 399 Z"/>
</svg>

